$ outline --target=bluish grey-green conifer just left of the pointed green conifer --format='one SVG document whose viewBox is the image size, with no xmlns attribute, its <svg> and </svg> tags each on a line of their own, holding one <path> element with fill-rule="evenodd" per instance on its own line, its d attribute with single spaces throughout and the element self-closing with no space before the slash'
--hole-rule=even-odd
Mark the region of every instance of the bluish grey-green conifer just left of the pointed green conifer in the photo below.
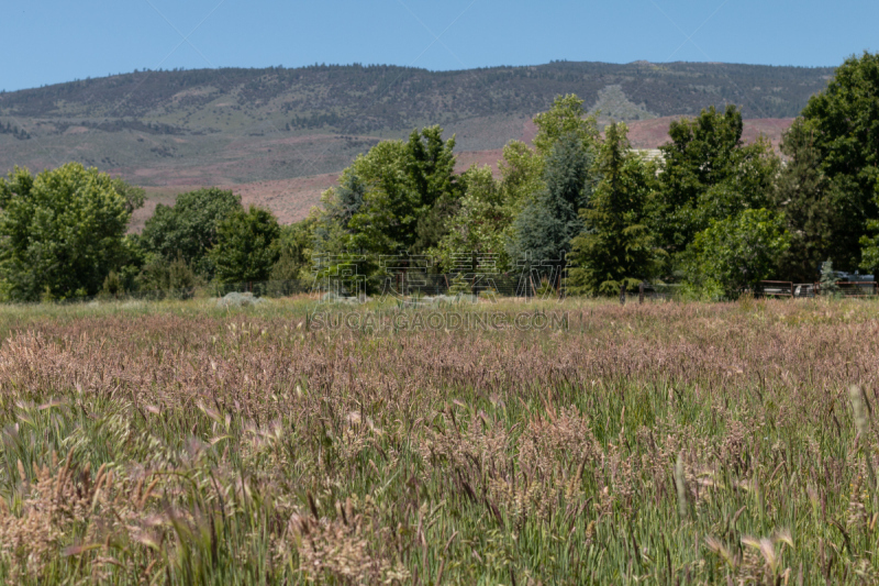
<svg viewBox="0 0 879 586">
<path fill-rule="evenodd" d="M 513 222 L 514 237 L 509 253 L 514 262 L 527 261 L 548 273 L 550 265 L 565 263 L 570 242 L 583 229 L 579 210 L 592 191 L 592 152 L 575 134 L 559 139 L 546 157 L 545 188 L 538 191 Z M 543 267 L 543 268 L 541 268 Z"/>
</svg>

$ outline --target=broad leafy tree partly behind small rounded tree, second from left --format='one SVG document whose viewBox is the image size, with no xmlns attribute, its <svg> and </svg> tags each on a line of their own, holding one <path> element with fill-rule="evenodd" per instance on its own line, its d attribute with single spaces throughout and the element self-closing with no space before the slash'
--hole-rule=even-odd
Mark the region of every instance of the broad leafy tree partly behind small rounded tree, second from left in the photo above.
<svg viewBox="0 0 879 586">
<path fill-rule="evenodd" d="M 208 252 L 218 241 L 218 226 L 242 210 L 238 196 L 216 187 L 180 194 L 174 206 L 156 206 L 141 233 L 141 244 L 168 263 L 179 255 L 197 274 L 211 278 L 213 264 Z"/>
</svg>

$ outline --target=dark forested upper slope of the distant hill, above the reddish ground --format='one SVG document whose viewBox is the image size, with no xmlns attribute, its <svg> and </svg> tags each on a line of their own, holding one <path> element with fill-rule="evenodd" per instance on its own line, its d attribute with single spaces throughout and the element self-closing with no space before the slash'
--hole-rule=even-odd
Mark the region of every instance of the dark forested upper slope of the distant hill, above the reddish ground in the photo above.
<svg viewBox="0 0 879 586">
<path fill-rule="evenodd" d="M 693 114 L 726 102 L 742 104 L 745 118 L 788 118 L 832 74 L 831 68 L 646 62 L 436 73 L 359 65 L 138 71 L 4 93 L 0 111 L 90 119 L 93 128 L 108 131 L 241 131 L 271 117 L 285 128 L 364 134 L 429 121 L 531 115 L 558 93 L 575 92 L 627 119 Z"/>
</svg>

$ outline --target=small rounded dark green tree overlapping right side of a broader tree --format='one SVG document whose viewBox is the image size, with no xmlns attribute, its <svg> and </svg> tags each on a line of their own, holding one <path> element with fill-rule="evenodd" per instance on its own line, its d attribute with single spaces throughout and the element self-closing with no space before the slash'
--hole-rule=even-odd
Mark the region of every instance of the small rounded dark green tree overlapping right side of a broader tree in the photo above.
<svg viewBox="0 0 879 586">
<path fill-rule="evenodd" d="M 236 210 L 216 226 L 209 255 L 220 283 L 268 280 L 278 261 L 278 220 L 263 208 Z"/>
</svg>

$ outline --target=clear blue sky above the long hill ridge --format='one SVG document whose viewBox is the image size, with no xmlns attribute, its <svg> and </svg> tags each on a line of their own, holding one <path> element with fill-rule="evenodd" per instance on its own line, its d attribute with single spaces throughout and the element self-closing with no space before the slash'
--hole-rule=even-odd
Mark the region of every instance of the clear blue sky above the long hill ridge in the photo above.
<svg viewBox="0 0 879 586">
<path fill-rule="evenodd" d="M 875 0 L 8 0 L 3 16 L 5 90 L 143 68 L 832 66 L 879 49 Z"/>
</svg>

